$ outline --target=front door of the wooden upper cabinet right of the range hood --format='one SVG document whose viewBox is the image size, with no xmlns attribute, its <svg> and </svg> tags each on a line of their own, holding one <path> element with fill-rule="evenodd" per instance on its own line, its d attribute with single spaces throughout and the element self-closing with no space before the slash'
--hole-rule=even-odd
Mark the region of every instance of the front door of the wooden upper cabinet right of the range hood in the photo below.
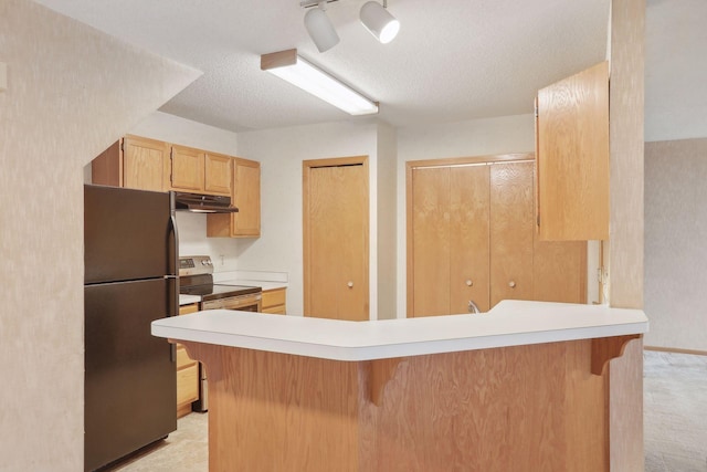
<svg viewBox="0 0 707 472">
<path fill-rule="evenodd" d="M 235 159 L 233 178 L 233 235 L 261 234 L 261 165 L 252 160 Z"/>
</svg>

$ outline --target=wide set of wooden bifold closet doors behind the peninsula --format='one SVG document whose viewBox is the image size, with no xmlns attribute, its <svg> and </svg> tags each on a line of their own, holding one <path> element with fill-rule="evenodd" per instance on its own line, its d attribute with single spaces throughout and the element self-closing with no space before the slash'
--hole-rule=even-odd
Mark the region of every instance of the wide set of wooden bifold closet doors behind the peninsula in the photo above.
<svg viewBox="0 0 707 472">
<path fill-rule="evenodd" d="M 488 159 L 408 164 L 408 316 L 585 302 L 587 243 L 536 234 L 532 154 Z"/>
</svg>

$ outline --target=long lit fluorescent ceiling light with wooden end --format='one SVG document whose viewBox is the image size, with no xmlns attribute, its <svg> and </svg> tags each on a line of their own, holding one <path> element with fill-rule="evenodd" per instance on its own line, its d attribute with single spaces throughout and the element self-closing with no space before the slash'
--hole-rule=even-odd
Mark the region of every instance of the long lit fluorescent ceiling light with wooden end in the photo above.
<svg viewBox="0 0 707 472">
<path fill-rule="evenodd" d="M 261 55 L 261 70 L 275 74 L 351 115 L 378 113 L 378 103 L 297 55 L 296 49 Z"/>
</svg>

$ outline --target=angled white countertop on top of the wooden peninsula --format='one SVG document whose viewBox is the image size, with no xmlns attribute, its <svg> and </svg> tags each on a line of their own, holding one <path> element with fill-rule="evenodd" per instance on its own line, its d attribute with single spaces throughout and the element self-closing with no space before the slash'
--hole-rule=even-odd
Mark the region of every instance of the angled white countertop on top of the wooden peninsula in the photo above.
<svg viewBox="0 0 707 472">
<path fill-rule="evenodd" d="M 152 322 L 152 335 L 335 360 L 371 360 L 648 331 L 641 310 L 504 301 L 478 315 L 344 322 L 211 310 Z"/>
</svg>

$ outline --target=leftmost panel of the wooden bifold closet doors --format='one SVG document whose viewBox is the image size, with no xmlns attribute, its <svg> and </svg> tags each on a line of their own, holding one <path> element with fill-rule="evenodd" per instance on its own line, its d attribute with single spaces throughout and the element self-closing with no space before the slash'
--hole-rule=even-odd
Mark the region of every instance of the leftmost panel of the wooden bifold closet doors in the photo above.
<svg viewBox="0 0 707 472">
<path fill-rule="evenodd" d="M 450 168 L 412 169 L 411 178 L 413 266 L 408 315 L 449 315 Z"/>
</svg>

